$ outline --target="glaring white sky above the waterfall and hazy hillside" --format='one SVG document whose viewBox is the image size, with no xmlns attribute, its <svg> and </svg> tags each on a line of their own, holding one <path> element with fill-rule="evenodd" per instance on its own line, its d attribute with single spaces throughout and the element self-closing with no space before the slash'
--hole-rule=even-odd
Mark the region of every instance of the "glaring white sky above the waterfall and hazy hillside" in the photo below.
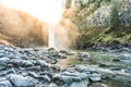
<svg viewBox="0 0 131 87">
<path fill-rule="evenodd" d="M 50 24 L 59 22 L 61 17 L 62 0 L 0 0 L 0 2 Z"/>
</svg>

